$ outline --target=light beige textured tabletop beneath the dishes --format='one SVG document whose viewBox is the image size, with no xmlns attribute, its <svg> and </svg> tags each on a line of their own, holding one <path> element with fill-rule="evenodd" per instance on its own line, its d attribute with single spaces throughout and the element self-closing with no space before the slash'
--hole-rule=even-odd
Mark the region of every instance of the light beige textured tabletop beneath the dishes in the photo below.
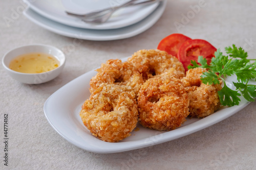
<svg viewBox="0 0 256 170">
<path fill-rule="evenodd" d="M 193 14 L 191 8 L 203 3 Z M 66 53 L 62 73 L 53 81 L 27 85 L 13 80 L 0 67 L 0 169 L 256 169 L 256 103 L 222 122 L 188 136 L 141 150 L 114 154 L 84 151 L 63 139 L 47 122 L 43 105 L 57 89 L 108 59 L 156 48 L 172 33 L 205 39 L 224 50 L 233 43 L 256 59 L 256 1 L 171 1 L 157 23 L 131 38 L 82 40 L 49 32 L 22 14 L 9 26 L 6 17 L 22 10 L 22 1 L 0 2 L 0 56 L 14 47 L 43 43 Z M 187 22 L 184 15 L 191 14 Z M 193 16 L 193 17 L 192 17 Z M 174 23 L 183 25 L 176 28 Z M 70 50 L 71 49 L 71 50 Z M 8 166 L 4 165 L 4 114 L 8 114 Z"/>
</svg>

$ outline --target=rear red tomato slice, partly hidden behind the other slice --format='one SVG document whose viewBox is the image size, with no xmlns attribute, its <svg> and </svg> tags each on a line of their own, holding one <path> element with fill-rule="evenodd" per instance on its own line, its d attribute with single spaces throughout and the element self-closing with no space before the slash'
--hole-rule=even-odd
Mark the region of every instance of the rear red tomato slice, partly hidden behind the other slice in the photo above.
<svg viewBox="0 0 256 170">
<path fill-rule="evenodd" d="M 159 42 L 157 49 L 177 57 L 181 44 L 190 39 L 183 34 L 171 34 Z"/>
</svg>

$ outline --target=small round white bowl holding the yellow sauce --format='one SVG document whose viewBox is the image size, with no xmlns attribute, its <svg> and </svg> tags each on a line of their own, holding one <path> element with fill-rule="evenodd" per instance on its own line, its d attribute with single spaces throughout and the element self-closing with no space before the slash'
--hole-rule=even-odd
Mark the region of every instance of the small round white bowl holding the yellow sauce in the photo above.
<svg viewBox="0 0 256 170">
<path fill-rule="evenodd" d="M 42 72 L 39 74 L 27 74 L 23 72 L 14 71 L 9 68 L 9 64 L 12 59 L 14 59 L 19 55 L 23 55 L 27 53 L 46 53 L 46 54 L 53 55 L 59 61 L 59 66 L 51 71 Z M 13 79 L 26 84 L 40 84 L 56 78 L 62 71 L 65 65 L 65 61 L 66 61 L 65 55 L 58 48 L 50 45 L 44 45 L 44 44 L 33 44 L 33 45 L 20 46 L 7 52 L 3 57 L 2 63 L 7 73 Z"/>
</svg>

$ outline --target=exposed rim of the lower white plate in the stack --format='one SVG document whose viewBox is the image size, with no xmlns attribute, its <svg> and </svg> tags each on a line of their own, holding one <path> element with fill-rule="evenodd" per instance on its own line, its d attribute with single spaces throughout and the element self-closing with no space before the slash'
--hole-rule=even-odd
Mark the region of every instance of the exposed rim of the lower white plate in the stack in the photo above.
<svg viewBox="0 0 256 170">
<path fill-rule="evenodd" d="M 66 25 L 62 25 L 61 23 L 58 22 L 54 22 L 48 18 L 45 18 L 44 16 L 41 16 L 40 14 L 36 13 L 35 11 L 33 11 L 31 8 L 27 8 L 26 10 L 24 10 L 24 15 L 30 19 L 32 22 L 34 22 L 36 25 L 47 29 L 48 31 L 54 32 L 56 34 L 62 35 L 62 36 L 67 36 L 67 37 L 72 37 L 72 38 L 78 38 L 78 39 L 84 39 L 84 40 L 93 40 L 93 41 L 109 41 L 109 40 L 119 40 L 119 39 L 125 39 L 125 38 L 130 38 L 133 36 L 136 36 L 144 31 L 146 31 L 147 29 L 151 28 L 158 20 L 159 18 L 162 16 L 165 7 L 167 4 L 167 0 L 163 0 L 159 6 L 157 7 L 157 9 L 155 9 L 155 11 L 153 11 L 150 15 L 148 15 L 146 18 L 144 18 L 143 20 L 141 20 L 140 22 L 135 23 L 134 25 L 128 26 L 128 27 L 124 27 L 124 28 L 120 28 L 120 29 L 113 29 L 113 30 L 90 30 L 90 29 L 80 29 L 80 28 L 74 28 L 74 27 L 70 27 L 70 26 L 66 26 Z M 33 15 L 31 14 L 33 13 Z M 37 15 L 37 16 L 36 16 Z M 42 18 L 44 20 L 47 20 L 47 23 L 44 23 L 42 21 L 38 21 L 36 20 L 36 17 Z M 51 23 L 52 22 L 52 23 Z M 146 22 L 146 24 L 144 24 L 144 22 Z M 54 27 L 53 27 L 54 25 Z M 65 28 L 66 31 L 63 30 L 58 30 L 56 27 L 62 27 Z M 136 30 L 132 30 L 135 27 L 141 26 L 139 29 Z M 68 31 L 67 31 L 68 30 Z M 122 34 L 120 35 L 112 35 L 112 36 L 89 36 L 89 35 L 82 35 L 82 31 L 84 32 L 96 32 L 100 33 L 102 31 L 104 32 L 109 32 L 109 31 L 116 31 L 116 30 L 132 30 L 130 32 L 125 32 L 123 31 Z M 79 32 L 80 31 L 80 32 Z M 80 35 L 78 35 L 80 33 Z"/>
</svg>

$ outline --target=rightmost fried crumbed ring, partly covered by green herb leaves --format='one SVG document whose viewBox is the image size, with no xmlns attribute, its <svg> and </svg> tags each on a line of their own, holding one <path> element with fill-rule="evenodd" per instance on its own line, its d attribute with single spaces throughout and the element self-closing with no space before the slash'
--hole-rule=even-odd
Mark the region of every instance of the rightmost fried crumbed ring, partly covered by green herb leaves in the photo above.
<svg viewBox="0 0 256 170">
<path fill-rule="evenodd" d="M 221 85 L 203 84 L 200 76 L 205 71 L 207 70 L 200 67 L 189 69 L 182 79 L 188 93 L 191 117 L 206 117 L 220 108 L 218 91 Z"/>
</svg>

